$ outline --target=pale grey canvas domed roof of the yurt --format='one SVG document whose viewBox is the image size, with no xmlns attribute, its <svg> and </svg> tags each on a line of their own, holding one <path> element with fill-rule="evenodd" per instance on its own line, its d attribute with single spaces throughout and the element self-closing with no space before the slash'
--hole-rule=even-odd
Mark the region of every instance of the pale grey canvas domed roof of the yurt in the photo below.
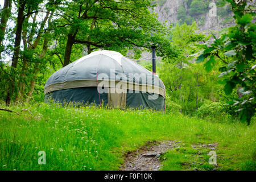
<svg viewBox="0 0 256 182">
<path fill-rule="evenodd" d="M 59 69 L 47 80 L 44 92 L 97 86 L 96 81 L 102 80 L 156 86 L 164 95 L 163 82 L 157 75 L 115 51 L 95 51 Z"/>
</svg>

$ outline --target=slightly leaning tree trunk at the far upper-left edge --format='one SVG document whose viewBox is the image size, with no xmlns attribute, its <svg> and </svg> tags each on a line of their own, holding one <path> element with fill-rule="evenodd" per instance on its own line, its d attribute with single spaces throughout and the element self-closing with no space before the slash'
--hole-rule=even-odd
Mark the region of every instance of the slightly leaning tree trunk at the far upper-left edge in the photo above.
<svg viewBox="0 0 256 182">
<path fill-rule="evenodd" d="M 6 23 L 11 14 L 11 1 L 12 0 L 5 0 L 5 4 L 3 5 L 3 9 L 2 9 L 2 17 L 0 22 L 0 59 L 1 59 L 1 53 L 3 51 L 2 42 L 5 38 Z"/>
</svg>

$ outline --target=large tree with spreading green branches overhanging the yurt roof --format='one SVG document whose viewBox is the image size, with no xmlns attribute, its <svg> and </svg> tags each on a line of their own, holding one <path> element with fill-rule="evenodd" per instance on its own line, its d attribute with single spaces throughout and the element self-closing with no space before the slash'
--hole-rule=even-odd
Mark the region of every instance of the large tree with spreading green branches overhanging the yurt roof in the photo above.
<svg viewBox="0 0 256 182">
<path fill-rule="evenodd" d="M 168 28 L 156 19 L 150 0 L 135 1 L 72 1 L 60 10 L 56 32 L 67 35 L 63 66 L 71 62 L 74 45 L 94 49 L 131 50 L 137 55 L 154 43 L 162 56 L 174 56 L 175 48 L 168 41 Z M 77 11 L 79 10 L 79 11 Z M 63 42 L 61 40 L 60 42 Z"/>
</svg>

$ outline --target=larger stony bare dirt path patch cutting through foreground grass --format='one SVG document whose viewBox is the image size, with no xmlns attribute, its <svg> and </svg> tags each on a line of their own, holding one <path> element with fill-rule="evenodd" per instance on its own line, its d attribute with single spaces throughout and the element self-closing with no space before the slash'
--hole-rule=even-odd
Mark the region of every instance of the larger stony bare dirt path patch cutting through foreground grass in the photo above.
<svg viewBox="0 0 256 182">
<path fill-rule="evenodd" d="M 120 171 L 158 171 L 160 156 L 171 150 L 174 141 L 148 142 L 146 146 L 127 154 Z"/>
</svg>

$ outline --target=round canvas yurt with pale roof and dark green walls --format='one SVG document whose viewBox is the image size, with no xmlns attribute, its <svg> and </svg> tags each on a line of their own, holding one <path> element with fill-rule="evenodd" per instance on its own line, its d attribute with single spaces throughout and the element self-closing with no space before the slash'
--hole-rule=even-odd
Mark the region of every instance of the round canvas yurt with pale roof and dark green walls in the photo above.
<svg viewBox="0 0 256 182">
<path fill-rule="evenodd" d="M 165 109 L 163 82 L 115 51 L 95 51 L 53 73 L 44 98 L 55 102 Z"/>
</svg>

